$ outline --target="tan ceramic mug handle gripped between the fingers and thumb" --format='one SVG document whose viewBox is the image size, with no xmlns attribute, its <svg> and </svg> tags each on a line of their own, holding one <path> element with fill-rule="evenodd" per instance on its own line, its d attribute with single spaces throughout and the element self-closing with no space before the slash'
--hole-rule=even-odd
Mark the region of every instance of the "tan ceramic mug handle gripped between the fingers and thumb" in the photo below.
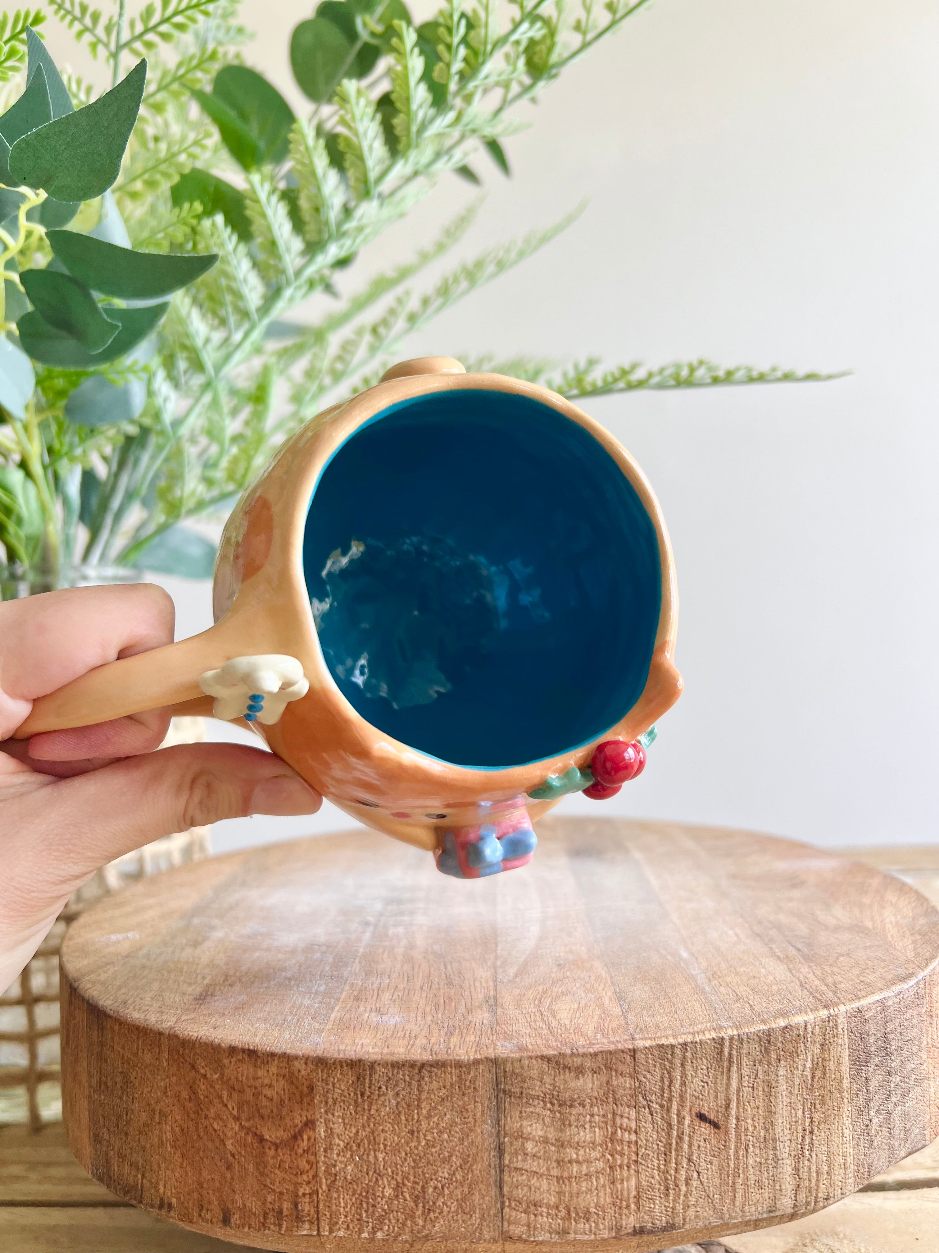
<svg viewBox="0 0 939 1253">
<path fill-rule="evenodd" d="M 199 675 L 248 650 L 243 630 L 227 629 L 229 626 L 234 626 L 232 618 L 200 635 L 108 662 L 79 675 L 58 692 L 34 700 L 30 715 L 13 738 L 29 739 L 44 730 L 88 727 L 164 705 L 185 704 L 184 709 L 174 710 L 179 713 L 209 713 L 212 702 L 199 687 Z"/>
</svg>

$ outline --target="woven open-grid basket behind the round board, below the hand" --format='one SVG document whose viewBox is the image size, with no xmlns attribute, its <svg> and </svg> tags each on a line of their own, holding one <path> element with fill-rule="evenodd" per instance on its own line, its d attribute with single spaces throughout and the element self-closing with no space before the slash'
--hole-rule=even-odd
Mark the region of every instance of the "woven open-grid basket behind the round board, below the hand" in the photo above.
<svg viewBox="0 0 939 1253">
<path fill-rule="evenodd" d="M 174 718 L 164 747 L 205 738 L 202 718 Z M 59 950 L 70 923 L 100 897 L 210 853 L 209 827 L 145 845 L 104 866 L 70 897 L 16 982 L 0 996 L 0 1124 L 39 1130 L 61 1120 Z"/>
</svg>

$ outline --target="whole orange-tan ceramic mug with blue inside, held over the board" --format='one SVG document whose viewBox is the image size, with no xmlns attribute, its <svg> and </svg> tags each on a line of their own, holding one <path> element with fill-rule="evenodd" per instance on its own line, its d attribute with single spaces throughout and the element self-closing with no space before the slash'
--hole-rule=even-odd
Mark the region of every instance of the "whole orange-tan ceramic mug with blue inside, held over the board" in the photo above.
<svg viewBox="0 0 939 1253">
<path fill-rule="evenodd" d="M 431 357 L 302 427 L 222 539 L 215 625 L 35 702 L 18 730 L 173 705 L 245 717 L 367 826 L 466 878 L 602 786 L 677 699 L 659 504 L 555 392 Z M 267 669 L 265 669 L 267 667 Z M 602 756 L 602 754 L 601 754 Z"/>
</svg>

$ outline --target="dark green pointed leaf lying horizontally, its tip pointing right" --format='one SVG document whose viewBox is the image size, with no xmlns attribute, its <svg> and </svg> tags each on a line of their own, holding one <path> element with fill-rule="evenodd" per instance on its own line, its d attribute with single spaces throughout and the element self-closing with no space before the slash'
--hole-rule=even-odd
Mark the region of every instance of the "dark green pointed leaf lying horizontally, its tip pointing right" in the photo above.
<svg viewBox="0 0 939 1253">
<path fill-rule="evenodd" d="M 73 278 L 121 301 L 151 301 L 194 283 L 218 261 L 207 256 L 134 252 L 75 231 L 50 231 L 49 244 Z M 31 296 L 30 296 L 31 299 Z M 34 301 L 35 303 L 35 301 Z M 53 321 L 46 315 L 46 321 Z"/>
</svg>

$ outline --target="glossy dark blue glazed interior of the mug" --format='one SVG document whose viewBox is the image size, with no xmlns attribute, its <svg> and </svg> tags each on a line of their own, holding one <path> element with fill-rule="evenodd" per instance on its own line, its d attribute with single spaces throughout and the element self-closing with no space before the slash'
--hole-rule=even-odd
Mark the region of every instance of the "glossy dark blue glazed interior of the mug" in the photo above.
<svg viewBox="0 0 939 1253">
<path fill-rule="evenodd" d="M 323 658 L 373 727 L 503 769 L 590 743 L 635 705 L 659 541 L 616 461 L 528 396 L 416 396 L 326 465 L 303 566 Z"/>
</svg>

